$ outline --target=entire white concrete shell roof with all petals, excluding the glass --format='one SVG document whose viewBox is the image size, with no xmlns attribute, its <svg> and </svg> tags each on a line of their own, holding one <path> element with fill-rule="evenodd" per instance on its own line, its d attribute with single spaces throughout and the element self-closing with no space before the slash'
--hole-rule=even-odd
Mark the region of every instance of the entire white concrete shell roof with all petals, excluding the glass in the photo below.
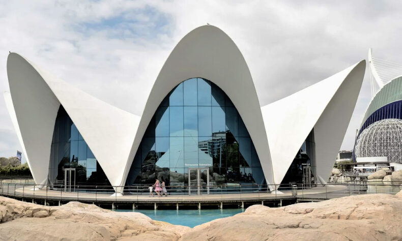
<svg viewBox="0 0 402 241">
<path fill-rule="evenodd" d="M 212 81 L 232 100 L 255 145 L 268 184 L 281 183 L 313 129 L 317 175 L 324 184 L 352 116 L 364 70 L 362 61 L 261 107 L 240 50 L 219 28 L 206 25 L 187 34 L 171 52 L 141 116 L 83 93 L 16 53 L 8 57 L 11 96 L 5 98 L 37 184 L 49 183 L 50 145 L 60 105 L 91 148 L 110 184 L 123 186 L 159 104 L 171 89 L 193 77 Z"/>
</svg>

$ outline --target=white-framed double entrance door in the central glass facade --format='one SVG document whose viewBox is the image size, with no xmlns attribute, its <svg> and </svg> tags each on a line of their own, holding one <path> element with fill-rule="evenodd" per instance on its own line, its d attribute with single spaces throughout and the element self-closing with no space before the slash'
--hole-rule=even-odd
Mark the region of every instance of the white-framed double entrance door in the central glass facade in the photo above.
<svg viewBox="0 0 402 241">
<path fill-rule="evenodd" d="M 188 194 L 209 195 L 209 168 L 188 168 Z"/>
</svg>

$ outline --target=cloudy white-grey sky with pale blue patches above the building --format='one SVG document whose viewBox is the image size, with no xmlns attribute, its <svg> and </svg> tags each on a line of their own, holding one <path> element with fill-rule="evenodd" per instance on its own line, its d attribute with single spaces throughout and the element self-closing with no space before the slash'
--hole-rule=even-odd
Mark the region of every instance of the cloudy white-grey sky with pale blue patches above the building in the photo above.
<svg viewBox="0 0 402 241">
<path fill-rule="evenodd" d="M 402 63 L 400 1 L 0 0 L 0 93 L 9 51 L 83 91 L 140 115 L 165 59 L 207 22 L 238 45 L 261 105 L 374 56 Z M 140 91 L 138 91 L 140 90 Z M 341 149 L 370 100 L 368 68 Z M 0 99 L 0 157 L 21 149 Z"/>
</svg>

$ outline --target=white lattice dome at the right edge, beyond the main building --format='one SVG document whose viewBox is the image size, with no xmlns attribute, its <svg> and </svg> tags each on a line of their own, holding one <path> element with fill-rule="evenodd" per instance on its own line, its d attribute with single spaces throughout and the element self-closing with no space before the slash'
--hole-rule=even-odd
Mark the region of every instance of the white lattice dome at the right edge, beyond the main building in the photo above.
<svg viewBox="0 0 402 241">
<path fill-rule="evenodd" d="M 402 162 L 402 120 L 383 119 L 371 124 L 359 136 L 356 157 L 387 157 Z"/>
</svg>

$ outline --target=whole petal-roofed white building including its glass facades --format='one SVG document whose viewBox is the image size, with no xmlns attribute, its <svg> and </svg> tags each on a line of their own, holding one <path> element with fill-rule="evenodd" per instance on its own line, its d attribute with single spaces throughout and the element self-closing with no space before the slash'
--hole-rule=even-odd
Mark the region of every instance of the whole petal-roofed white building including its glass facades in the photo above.
<svg viewBox="0 0 402 241">
<path fill-rule="evenodd" d="M 275 190 L 326 183 L 364 71 L 361 61 L 261 106 L 236 44 L 206 25 L 170 53 L 141 116 L 82 92 L 17 53 L 8 57 L 5 100 L 38 185 L 65 184 L 73 173 L 75 185 L 111 185 L 118 192 L 155 178 L 172 187 L 267 184 Z M 286 80 L 271 79 L 267 71 L 266 81 Z"/>
</svg>

